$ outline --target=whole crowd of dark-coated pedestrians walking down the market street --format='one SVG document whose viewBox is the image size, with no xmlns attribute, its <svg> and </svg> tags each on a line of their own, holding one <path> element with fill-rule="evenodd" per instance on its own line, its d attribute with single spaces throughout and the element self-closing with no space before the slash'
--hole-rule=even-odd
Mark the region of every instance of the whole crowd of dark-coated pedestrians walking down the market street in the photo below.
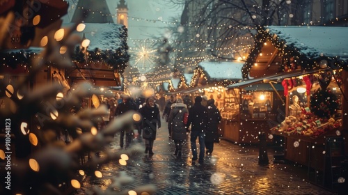
<svg viewBox="0 0 348 195">
<path fill-rule="evenodd" d="M 169 141 L 175 143 L 174 155 L 182 156 L 182 146 L 190 138 L 192 161 L 203 163 L 205 155 L 212 155 L 214 143 L 219 141 L 221 114 L 214 99 L 207 100 L 207 96 L 198 95 L 193 102 L 189 95 L 185 95 L 184 99 L 171 95 L 165 102 L 161 98 L 161 101 L 154 97 L 134 100 L 129 95 L 120 95 L 122 102 L 115 98 L 104 101 L 110 111 L 105 123 L 131 110 L 138 111 L 142 116 L 140 123 L 120 132 L 120 148 L 126 149 L 136 140 L 145 142 L 146 154 L 154 155 L 152 148 L 162 118 L 168 123 Z"/>
</svg>

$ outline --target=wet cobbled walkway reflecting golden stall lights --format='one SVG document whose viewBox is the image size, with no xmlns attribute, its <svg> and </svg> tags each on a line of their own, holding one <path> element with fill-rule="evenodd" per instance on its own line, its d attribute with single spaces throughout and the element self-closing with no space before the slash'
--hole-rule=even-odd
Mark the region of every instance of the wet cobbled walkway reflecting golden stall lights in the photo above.
<svg viewBox="0 0 348 195">
<path fill-rule="evenodd" d="M 93 185 L 106 189 L 120 171 L 134 181 L 125 189 L 149 183 L 157 187 L 156 194 L 334 194 L 306 180 L 306 168 L 296 164 L 274 164 L 274 150 L 269 148 L 269 164 L 258 165 L 257 146 L 238 146 L 228 141 L 215 143 L 212 157 L 204 164 L 191 161 L 189 142 L 182 158 L 173 156 L 175 146 L 168 139 L 166 123 L 157 132 L 152 157 L 141 154 L 129 159 L 127 166 L 110 162 L 101 167 L 103 178 L 86 176 L 77 194 Z M 113 143 L 118 148 L 118 137 Z M 143 144 L 143 143 L 142 143 Z M 91 174 L 92 175 L 92 174 Z M 118 189 L 120 191 L 121 189 Z"/>
</svg>

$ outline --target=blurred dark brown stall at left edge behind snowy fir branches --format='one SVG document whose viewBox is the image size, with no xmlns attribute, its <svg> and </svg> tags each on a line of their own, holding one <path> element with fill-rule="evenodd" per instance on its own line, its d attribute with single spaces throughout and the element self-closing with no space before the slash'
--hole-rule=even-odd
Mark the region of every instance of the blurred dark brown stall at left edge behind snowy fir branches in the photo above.
<svg viewBox="0 0 348 195">
<path fill-rule="evenodd" d="M 3 93 L 0 97 L 0 114 L 3 121 L 5 121 L 4 116 L 16 112 L 17 98 L 22 100 L 28 91 L 40 90 L 47 84 L 58 84 L 62 88 L 61 94 L 70 89 L 65 80 L 64 69 L 53 63 L 54 55 L 44 49 L 45 40 L 53 39 L 49 39 L 47 35 L 61 28 L 61 16 L 67 13 L 68 3 L 65 1 L 37 2 L 35 6 L 40 6 L 42 9 L 35 10 L 35 15 L 26 17 L 24 20 L 22 15 L 33 12 L 32 3 L 31 1 L 23 2 L 21 8 L 15 7 L 15 1 L 1 3 L 5 6 L 1 5 L 0 8 L 0 24 L 2 29 L 6 29 L 0 33 L 0 84 L 3 89 L 6 88 L 6 93 L 1 89 Z M 45 17 L 41 17 L 42 15 Z M 42 58 L 45 56 L 49 56 L 52 61 L 44 61 Z M 19 86 L 23 86 L 27 91 L 24 89 L 19 91 Z M 28 136 L 34 137 L 29 131 L 34 129 L 31 123 L 33 118 L 29 115 L 31 108 L 24 108 L 20 111 L 22 114 L 12 118 L 12 123 L 8 123 L 12 124 L 10 150 L 13 154 L 13 162 L 16 158 L 31 154 L 37 148 L 35 146 L 40 145 L 35 139 L 31 139 L 30 142 L 28 139 Z M 4 125 L 5 123 L 1 126 L 0 132 L 1 149 L 5 148 L 6 143 L 7 132 Z"/>
</svg>

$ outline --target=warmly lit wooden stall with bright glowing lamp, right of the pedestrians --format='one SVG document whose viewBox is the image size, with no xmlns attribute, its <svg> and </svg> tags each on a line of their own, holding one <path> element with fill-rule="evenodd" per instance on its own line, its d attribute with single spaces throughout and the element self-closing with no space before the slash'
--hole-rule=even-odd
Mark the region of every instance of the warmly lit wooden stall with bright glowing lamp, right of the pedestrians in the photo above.
<svg viewBox="0 0 348 195">
<path fill-rule="evenodd" d="M 235 143 L 258 143 L 258 135 L 269 129 L 283 110 L 283 86 L 269 77 L 227 86 L 223 117 L 223 139 Z"/>
</svg>

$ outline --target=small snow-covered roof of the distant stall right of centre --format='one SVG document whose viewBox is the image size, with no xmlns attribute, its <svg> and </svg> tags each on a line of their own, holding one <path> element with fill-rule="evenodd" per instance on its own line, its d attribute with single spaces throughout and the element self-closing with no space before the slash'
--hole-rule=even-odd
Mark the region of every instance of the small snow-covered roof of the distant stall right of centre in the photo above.
<svg viewBox="0 0 348 195">
<path fill-rule="evenodd" d="M 198 64 L 205 75 L 212 80 L 242 79 L 244 62 L 237 61 L 203 61 Z"/>
</svg>

